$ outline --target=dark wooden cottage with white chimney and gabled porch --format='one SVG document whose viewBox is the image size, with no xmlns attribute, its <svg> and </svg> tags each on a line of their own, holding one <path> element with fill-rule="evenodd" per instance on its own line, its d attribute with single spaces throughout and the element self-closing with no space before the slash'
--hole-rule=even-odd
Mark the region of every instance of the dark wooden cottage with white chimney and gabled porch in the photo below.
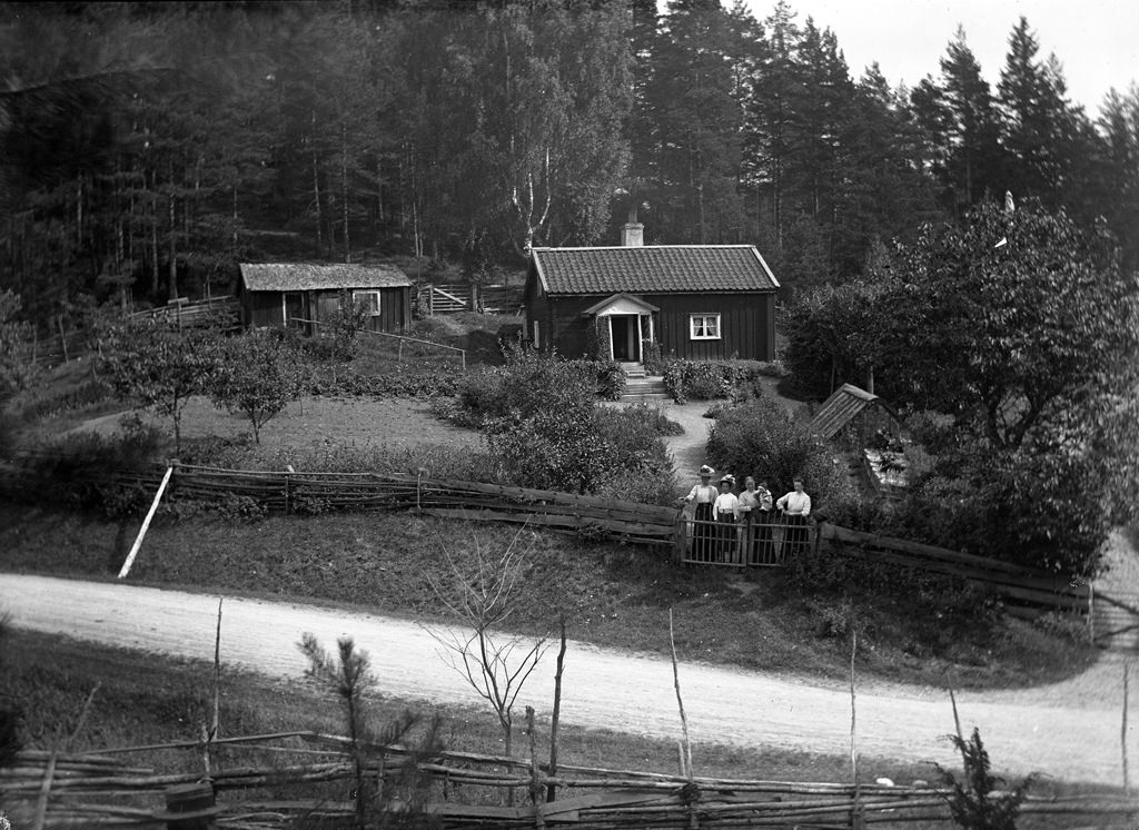
<svg viewBox="0 0 1139 830">
<path fill-rule="evenodd" d="M 648 344 L 690 360 L 775 356 L 779 282 L 751 245 L 534 248 L 526 338 L 543 351 L 637 363 Z M 630 244 L 631 240 L 631 244 Z"/>
</svg>

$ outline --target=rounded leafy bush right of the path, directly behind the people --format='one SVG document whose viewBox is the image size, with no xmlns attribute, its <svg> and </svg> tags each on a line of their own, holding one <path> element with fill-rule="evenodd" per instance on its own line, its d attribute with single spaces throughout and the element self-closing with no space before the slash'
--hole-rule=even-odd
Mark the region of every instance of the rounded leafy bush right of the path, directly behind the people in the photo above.
<svg viewBox="0 0 1139 830">
<path fill-rule="evenodd" d="M 845 465 L 837 463 L 826 444 L 765 397 L 722 412 L 712 425 L 707 452 L 716 469 L 767 479 L 776 495 L 802 478 L 813 510 L 831 511 L 857 500 Z"/>
</svg>

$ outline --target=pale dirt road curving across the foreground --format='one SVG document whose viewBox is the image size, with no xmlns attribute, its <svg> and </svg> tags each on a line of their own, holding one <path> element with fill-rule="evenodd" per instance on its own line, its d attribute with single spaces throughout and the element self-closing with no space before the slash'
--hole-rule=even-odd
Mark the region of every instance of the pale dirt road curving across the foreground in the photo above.
<svg viewBox="0 0 1139 830">
<path fill-rule="evenodd" d="M 18 627 L 212 659 L 218 598 L 0 574 L 0 610 L 10 613 Z M 481 702 L 439 656 L 439 646 L 426 631 L 380 616 L 227 598 L 221 657 L 267 674 L 298 676 L 304 663 L 295 643 L 303 632 L 313 632 L 326 646 L 353 636 L 376 665 L 384 666 L 379 688 L 385 693 L 432 702 Z M 680 683 L 694 741 L 850 751 L 850 696 L 841 688 L 689 663 L 680 667 Z M 548 712 L 552 685 L 552 655 L 548 655 L 518 706 L 531 704 Z M 1118 709 L 1077 700 L 1041 705 L 1032 695 L 1029 702 L 1008 693 L 997 697 L 994 701 L 965 693 L 959 708 L 965 729 L 980 726 L 998 769 L 1121 783 Z M 581 726 L 674 739 L 680 723 L 672 666 L 656 656 L 573 642 L 566 656 L 563 718 Z M 727 730 L 723 724 L 729 724 Z M 952 728 L 949 700 L 940 692 L 859 691 L 858 747 L 863 755 L 953 764 L 943 739 Z M 1128 741 L 1130 757 L 1139 757 L 1139 730 L 1132 728 Z"/>
</svg>

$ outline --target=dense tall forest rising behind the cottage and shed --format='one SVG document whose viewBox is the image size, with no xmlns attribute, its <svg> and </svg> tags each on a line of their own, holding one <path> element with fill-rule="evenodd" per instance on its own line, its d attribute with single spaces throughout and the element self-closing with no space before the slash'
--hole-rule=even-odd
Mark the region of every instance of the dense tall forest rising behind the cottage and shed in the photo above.
<svg viewBox="0 0 1139 830">
<path fill-rule="evenodd" d="M 1006 191 L 1139 263 L 1139 87 L 1089 114 L 1024 18 L 1000 80 L 853 77 L 787 2 L 5 3 L 0 287 L 41 327 L 236 263 L 751 243 L 792 291 Z M 1125 81 L 1125 79 L 1124 79 Z"/>
</svg>

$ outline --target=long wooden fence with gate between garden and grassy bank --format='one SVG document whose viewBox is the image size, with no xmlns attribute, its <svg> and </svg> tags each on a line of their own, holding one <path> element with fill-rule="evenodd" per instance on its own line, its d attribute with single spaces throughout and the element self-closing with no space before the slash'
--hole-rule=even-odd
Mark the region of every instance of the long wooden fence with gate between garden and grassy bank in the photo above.
<svg viewBox="0 0 1139 830">
<path fill-rule="evenodd" d="M 667 548 L 675 560 L 697 565 L 778 566 L 826 545 L 827 551 L 842 556 L 985 585 L 1005 598 L 1014 615 L 1039 616 L 1048 610 L 1089 614 L 1091 607 L 1091 587 L 1073 584 L 1066 576 L 827 521 L 790 525 L 777 519 L 765 526 L 704 521 L 685 516 L 675 507 L 407 472 L 226 470 L 177 462 L 173 468 L 173 499 L 208 502 L 240 498 L 280 513 L 416 509 L 446 518 L 528 524 L 589 539 Z M 109 478 L 118 486 L 153 494 L 165 470 L 156 466 L 142 472 L 110 472 L 100 480 Z M 0 492 L 18 499 L 33 490 L 19 468 L 0 468 Z M 1104 598 L 1101 602 L 1111 601 Z M 1116 605 L 1133 611 L 1125 603 Z M 1137 619 L 1129 617 L 1122 625 Z"/>
</svg>

